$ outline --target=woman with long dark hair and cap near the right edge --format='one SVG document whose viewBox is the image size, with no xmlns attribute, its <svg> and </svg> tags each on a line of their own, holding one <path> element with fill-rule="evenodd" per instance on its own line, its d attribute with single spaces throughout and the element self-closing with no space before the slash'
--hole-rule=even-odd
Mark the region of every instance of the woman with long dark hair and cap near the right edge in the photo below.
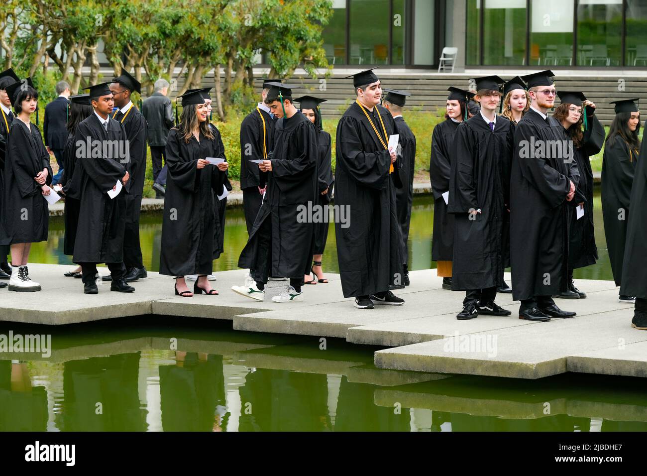
<svg viewBox="0 0 647 476">
<path fill-rule="evenodd" d="M 641 141 L 640 111 L 634 101 L 623 99 L 615 104 L 615 118 L 604 144 L 602 157 L 602 218 L 613 280 L 620 286 L 622 259 L 629 218 L 631 185 Z M 635 302 L 635 297 L 620 295 L 620 302 Z"/>
</svg>

